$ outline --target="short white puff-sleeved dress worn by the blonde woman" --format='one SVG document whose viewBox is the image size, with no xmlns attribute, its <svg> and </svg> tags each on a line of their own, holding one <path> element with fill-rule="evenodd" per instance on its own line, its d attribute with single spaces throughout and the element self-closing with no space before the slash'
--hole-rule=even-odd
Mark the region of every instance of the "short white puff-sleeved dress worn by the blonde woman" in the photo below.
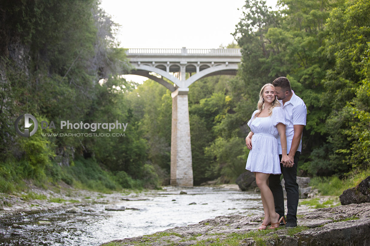
<svg viewBox="0 0 370 246">
<path fill-rule="evenodd" d="M 253 112 L 248 122 L 253 137 L 252 150 L 249 151 L 245 169 L 251 172 L 280 174 L 279 150 L 277 149 L 279 132 L 276 125 L 286 124 L 284 110 L 281 107 L 274 107 L 271 116 L 255 118 L 257 112 L 258 110 Z"/>
</svg>

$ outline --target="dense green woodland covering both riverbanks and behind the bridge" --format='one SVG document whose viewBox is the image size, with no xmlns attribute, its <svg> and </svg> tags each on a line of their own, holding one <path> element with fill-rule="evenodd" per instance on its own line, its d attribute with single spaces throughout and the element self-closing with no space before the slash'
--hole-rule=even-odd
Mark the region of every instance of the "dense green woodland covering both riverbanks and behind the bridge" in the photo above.
<svg viewBox="0 0 370 246">
<path fill-rule="evenodd" d="M 369 168 L 369 1 L 279 5 L 273 11 L 265 1 L 245 1 L 238 44 L 229 45 L 242 49 L 238 75 L 203 78 L 189 88 L 195 184 L 232 182 L 244 171 L 246 122 L 262 85 L 279 76 L 307 106 L 299 172 L 337 175 L 317 179 L 317 186 L 329 182 L 323 193 L 334 194 L 347 182 L 339 179 L 344 173 Z M 9 1 L 1 9 L 0 191 L 20 189 L 22 179 L 105 192 L 168 184 L 171 93 L 151 80 L 122 78 L 130 67 L 114 40 L 118 25 L 98 3 Z M 57 129 L 17 136 L 14 121 L 24 113 L 53 120 Z M 128 125 L 110 132 L 122 137 L 44 137 L 78 132 L 59 129 L 60 120 Z"/>
</svg>

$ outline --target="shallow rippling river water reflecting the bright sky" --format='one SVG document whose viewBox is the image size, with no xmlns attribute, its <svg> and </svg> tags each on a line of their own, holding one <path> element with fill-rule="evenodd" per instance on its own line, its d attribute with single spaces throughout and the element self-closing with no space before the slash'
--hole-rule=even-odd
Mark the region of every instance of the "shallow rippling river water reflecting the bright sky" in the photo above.
<svg viewBox="0 0 370 246">
<path fill-rule="evenodd" d="M 187 194 L 180 195 L 180 191 Z M 263 212 L 258 193 L 220 187 L 165 187 L 162 191 L 140 194 L 137 199 L 142 198 L 146 199 L 114 204 L 139 210 L 105 211 L 109 204 L 92 204 L 80 208 L 92 208 L 95 212 L 65 213 L 62 209 L 1 218 L 0 245 L 100 245 L 115 239 L 195 224 L 219 215 Z M 38 225 L 38 221 L 50 221 L 51 224 Z M 13 223 L 23 225 L 23 228 L 13 229 Z"/>
</svg>

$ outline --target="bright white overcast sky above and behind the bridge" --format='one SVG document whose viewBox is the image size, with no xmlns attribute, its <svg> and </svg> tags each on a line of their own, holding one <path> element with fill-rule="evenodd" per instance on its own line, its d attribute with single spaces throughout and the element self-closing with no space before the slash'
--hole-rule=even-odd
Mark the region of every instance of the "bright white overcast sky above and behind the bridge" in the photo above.
<svg viewBox="0 0 370 246">
<path fill-rule="evenodd" d="M 277 0 L 267 0 L 275 6 Z M 122 48 L 212 49 L 234 41 L 245 0 L 102 0 Z M 239 8 L 239 10 L 238 10 Z M 125 75 L 141 83 L 147 78 Z"/>
</svg>

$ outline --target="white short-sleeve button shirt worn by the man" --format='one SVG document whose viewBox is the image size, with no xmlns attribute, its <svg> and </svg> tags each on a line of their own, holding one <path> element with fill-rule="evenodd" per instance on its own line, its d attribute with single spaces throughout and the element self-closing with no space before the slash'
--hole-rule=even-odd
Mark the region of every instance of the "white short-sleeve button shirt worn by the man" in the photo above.
<svg viewBox="0 0 370 246">
<path fill-rule="evenodd" d="M 304 125 L 306 126 L 306 116 L 307 108 L 305 102 L 297 96 L 292 90 L 292 98 L 283 105 L 283 100 L 279 100 L 280 104 L 283 105 L 283 110 L 285 112 L 286 119 L 286 153 L 289 154 L 290 147 L 292 147 L 292 140 L 294 135 L 294 125 Z M 277 138 L 277 143 L 279 144 L 279 154 L 282 154 L 280 136 Z M 299 142 L 297 151 L 302 152 L 302 137 Z"/>
</svg>

